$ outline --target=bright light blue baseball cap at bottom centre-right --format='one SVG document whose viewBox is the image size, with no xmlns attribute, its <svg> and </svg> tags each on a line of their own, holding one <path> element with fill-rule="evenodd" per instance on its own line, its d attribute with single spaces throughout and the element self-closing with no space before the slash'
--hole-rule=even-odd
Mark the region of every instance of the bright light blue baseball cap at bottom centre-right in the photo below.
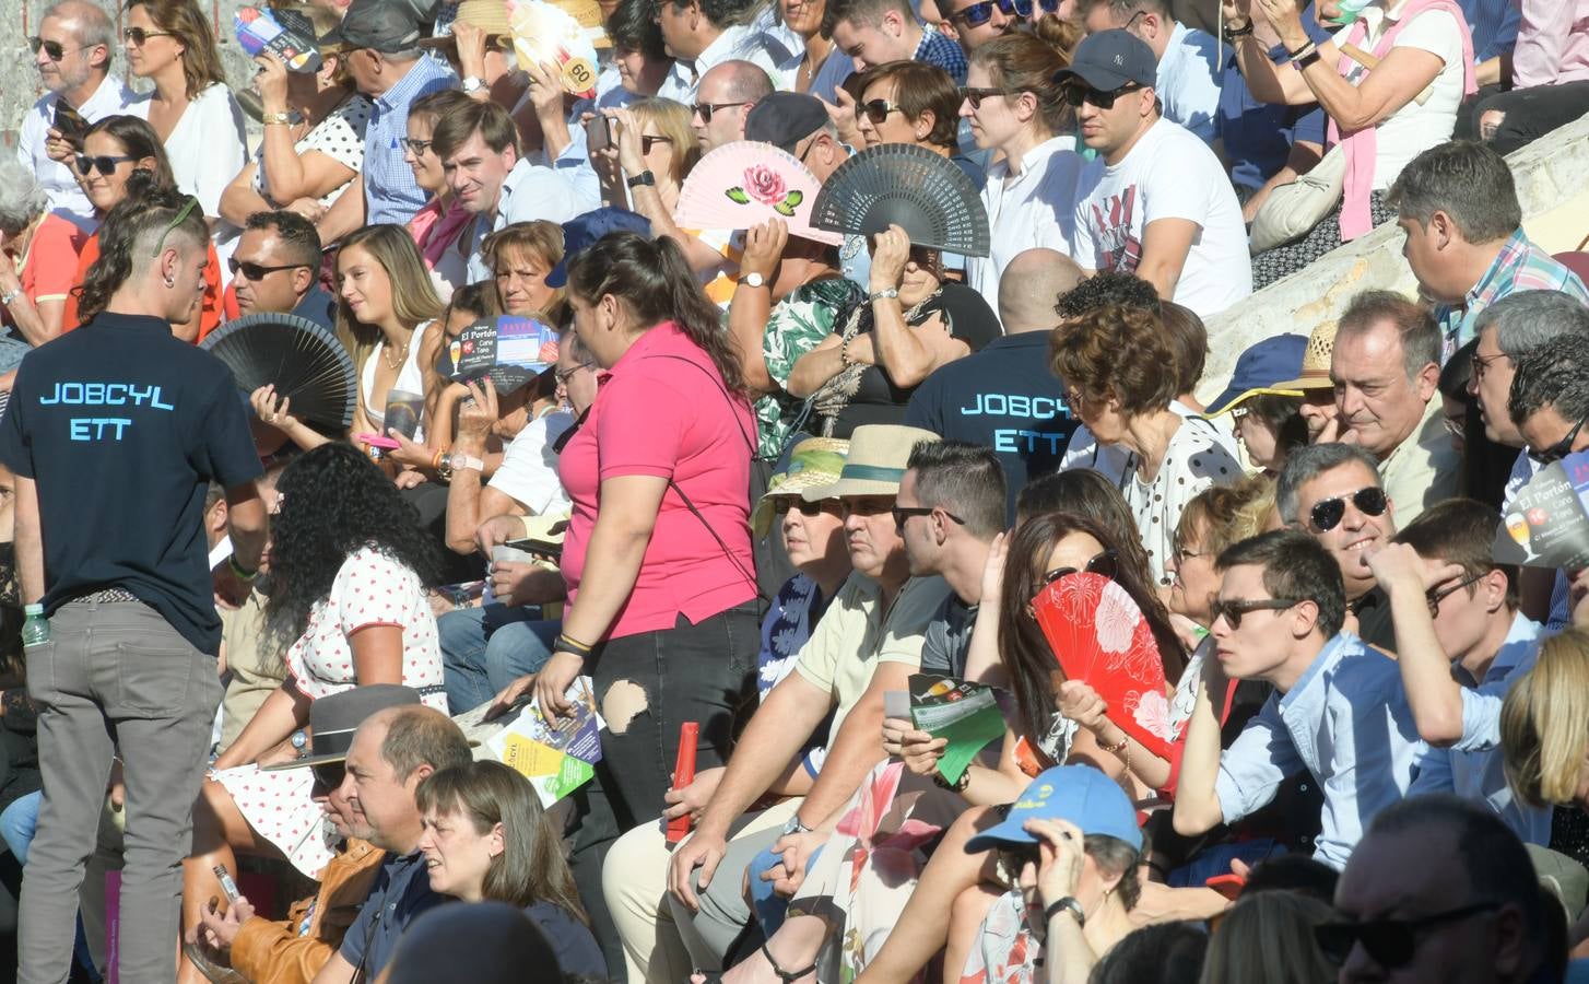
<svg viewBox="0 0 1589 984">
<path fill-rule="evenodd" d="M 966 852 L 1036 844 L 1038 838 L 1023 830 L 1026 820 L 1069 820 L 1084 835 L 1098 833 L 1142 849 L 1131 800 L 1114 779 L 1088 765 L 1055 766 L 1033 779 L 1001 823 L 966 841 Z"/>
</svg>

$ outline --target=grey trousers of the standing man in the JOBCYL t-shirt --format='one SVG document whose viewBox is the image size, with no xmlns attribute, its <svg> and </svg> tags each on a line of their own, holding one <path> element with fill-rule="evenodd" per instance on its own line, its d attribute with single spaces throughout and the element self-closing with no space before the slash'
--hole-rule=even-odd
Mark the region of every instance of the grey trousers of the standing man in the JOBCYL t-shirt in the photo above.
<svg viewBox="0 0 1589 984">
<path fill-rule="evenodd" d="M 183 858 L 221 703 L 215 658 L 135 601 L 65 604 L 49 633 L 27 650 L 44 800 L 22 877 L 17 979 L 67 979 L 78 887 L 119 747 L 127 784 L 119 974 L 173 981 Z"/>
</svg>

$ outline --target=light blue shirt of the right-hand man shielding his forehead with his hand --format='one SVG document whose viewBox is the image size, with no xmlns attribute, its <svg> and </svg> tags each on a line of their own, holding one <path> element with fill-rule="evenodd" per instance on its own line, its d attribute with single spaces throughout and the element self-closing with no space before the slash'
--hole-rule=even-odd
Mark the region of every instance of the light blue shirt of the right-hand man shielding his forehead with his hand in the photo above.
<svg viewBox="0 0 1589 984">
<path fill-rule="evenodd" d="M 1484 800 L 1529 844 L 1551 844 L 1551 809 L 1513 800 L 1500 753 L 1500 704 L 1511 682 L 1533 669 L 1545 628 L 1522 615 L 1490 661 L 1478 687 L 1462 688 L 1462 738 L 1451 747 L 1432 747 L 1408 795 L 1456 793 Z"/>
</svg>

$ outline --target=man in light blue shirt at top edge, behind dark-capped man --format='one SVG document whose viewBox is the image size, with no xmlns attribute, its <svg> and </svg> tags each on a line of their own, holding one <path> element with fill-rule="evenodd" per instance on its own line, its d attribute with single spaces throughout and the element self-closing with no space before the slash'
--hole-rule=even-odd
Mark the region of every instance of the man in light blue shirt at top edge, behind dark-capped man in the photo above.
<svg viewBox="0 0 1589 984">
<path fill-rule="evenodd" d="M 1079 6 L 1088 33 L 1117 27 L 1154 49 L 1158 60 L 1154 91 L 1165 103 L 1165 119 L 1212 146 L 1220 86 L 1214 35 L 1176 21 L 1166 0 L 1084 0 Z"/>
</svg>

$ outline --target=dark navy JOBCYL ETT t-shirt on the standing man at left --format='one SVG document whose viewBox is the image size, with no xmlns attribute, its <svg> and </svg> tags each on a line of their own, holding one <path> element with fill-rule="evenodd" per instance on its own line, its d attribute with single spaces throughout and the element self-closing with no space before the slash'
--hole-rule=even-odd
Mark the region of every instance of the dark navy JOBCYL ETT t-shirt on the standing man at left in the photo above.
<svg viewBox="0 0 1589 984">
<path fill-rule="evenodd" d="M 38 486 L 46 612 L 119 587 L 219 652 L 203 499 L 262 472 L 221 359 L 159 318 L 100 313 L 22 359 L 0 463 Z"/>
</svg>

